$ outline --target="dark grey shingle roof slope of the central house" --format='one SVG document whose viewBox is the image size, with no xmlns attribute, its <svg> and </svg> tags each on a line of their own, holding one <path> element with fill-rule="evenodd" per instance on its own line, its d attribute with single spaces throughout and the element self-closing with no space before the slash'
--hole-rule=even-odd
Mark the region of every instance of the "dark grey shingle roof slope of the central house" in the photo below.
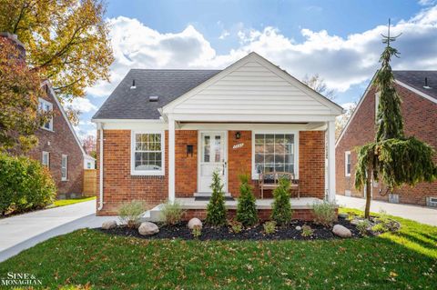
<svg viewBox="0 0 437 290">
<path fill-rule="evenodd" d="M 184 95 L 220 70 L 131 69 L 93 119 L 158 119 L 158 108 Z M 130 89 L 135 80 L 136 89 Z M 149 102 L 158 95 L 158 102 Z"/>
</svg>

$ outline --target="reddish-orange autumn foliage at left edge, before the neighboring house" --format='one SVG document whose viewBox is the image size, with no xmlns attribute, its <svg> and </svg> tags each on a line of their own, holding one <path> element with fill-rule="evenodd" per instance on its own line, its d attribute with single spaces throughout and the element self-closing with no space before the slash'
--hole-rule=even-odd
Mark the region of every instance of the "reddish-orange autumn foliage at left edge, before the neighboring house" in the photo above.
<svg viewBox="0 0 437 290">
<path fill-rule="evenodd" d="M 35 130 L 49 115 L 38 113 L 41 79 L 21 51 L 0 37 L 0 151 L 23 152 L 36 145 Z"/>
</svg>

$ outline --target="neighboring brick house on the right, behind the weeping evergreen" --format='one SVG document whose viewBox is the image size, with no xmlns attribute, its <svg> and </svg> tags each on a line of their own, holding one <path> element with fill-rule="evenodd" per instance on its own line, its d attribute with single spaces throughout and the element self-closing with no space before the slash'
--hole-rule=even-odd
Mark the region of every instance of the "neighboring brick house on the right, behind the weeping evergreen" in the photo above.
<svg viewBox="0 0 437 290">
<path fill-rule="evenodd" d="M 437 147 L 437 71 L 394 71 L 396 91 L 401 95 L 401 113 L 405 135 L 414 135 Z M 354 188 L 357 153 L 354 148 L 375 138 L 375 115 L 378 94 L 373 82 L 351 115 L 336 142 L 336 185 L 338 195 L 364 196 L 364 190 Z M 348 161 L 348 162 L 347 162 Z M 437 162 L 437 160 L 436 160 Z M 373 199 L 393 203 L 437 206 L 437 182 L 402 186 L 386 194 L 381 183 L 373 182 Z M 434 201 L 432 203 L 432 201 Z"/>
</svg>

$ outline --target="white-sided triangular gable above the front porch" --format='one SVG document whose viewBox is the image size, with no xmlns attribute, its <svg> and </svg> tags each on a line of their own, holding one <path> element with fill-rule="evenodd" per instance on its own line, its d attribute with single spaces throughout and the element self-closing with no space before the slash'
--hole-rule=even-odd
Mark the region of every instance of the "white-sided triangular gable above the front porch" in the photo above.
<svg viewBox="0 0 437 290">
<path fill-rule="evenodd" d="M 261 77 L 261 79 L 255 80 L 255 75 Z M 290 75 L 287 71 L 279 68 L 278 65 L 274 65 L 261 55 L 252 52 L 249 55 L 246 55 L 243 58 L 239 59 L 239 61 L 235 62 L 234 64 L 229 65 L 227 68 L 219 72 L 219 74 L 212 76 L 204 83 L 198 85 L 197 87 L 194 87 L 186 94 L 181 95 L 180 97 L 166 105 L 163 108 L 163 112 L 165 114 L 168 114 L 181 113 L 182 111 L 184 111 L 188 114 L 198 114 L 200 113 L 198 112 L 200 110 L 202 113 L 208 114 L 206 110 L 200 107 L 197 108 L 198 110 L 194 109 L 191 111 L 183 110 L 182 107 L 184 107 L 184 103 L 187 103 L 187 105 L 185 106 L 186 108 L 193 108 L 193 105 L 196 105 L 196 102 L 198 101 L 199 103 L 202 103 L 206 100 L 210 101 L 214 98 L 214 95 L 216 95 L 221 89 L 223 93 L 230 95 L 241 95 L 239 91 L 246 91 L 249 99 L 247 99 L 247 103 L 242 106 L 244 110 L 241 110 L 242 107 L 226 104 L 228 105 L 228 107 L 216 107 L 216 112 L 220 109 L 224 109 L 225 111 L 236 110 L 239 112 L 240 115 L 247 114 L 250 111 L 249 107 L 250 105 L 252 105 L 251 99 L 254 97 L 254 95 L 257 95 L 259 91 L 262 92 L 263 95 L 269 95 L 274 90 L 272 89 L 272 87 L 275 86 L 279 86 L 279 90 L 282 91 L 280 95 L 284 95 L 285 91 L 294 91 L 294 95 L 287 95 L 285 98 L 282 99 L 284 104 L 279 104 L 276 107 L 276 109 L 278 109 L 278 107 L 281 107 L 282 109 L 282 113 L 279 111 L 276 112 L 279 115 L 300 115 L 302 113 L 312 114 L 315 113 L 317 110 L 319 110 L 319 113 L 321 115 L 340 115 L 343 111 L 343 108 L 340 105 L 337 105 L 336 103 L 330 101 L 330 99 L 326 98 L 324 95 L 320 95 L 309 86 L 304 85 L 294 76 Z M 209 96 L 206 96 L 206 98 L 198 96 L 202 94 L 206 94 Z M 299 97 L 306 98 L 307 103 L 300 103 L 300 105 L 298 105 L 299 103 L 295 103 L 294 105 L 290 105 L 289 103 L 289 106 L 285 104 L 287 102 L 292 102 L 293 99 L 296 100 Z M 268 98 L 264 97 L 264 99 L 264 105 L 272 105 L 270 104 Z M 224 103 L 230 102 L 225 101 Z M 259 105 L 262 106 L 263 104 L 259 103 Z M 213 111 L 214 110 L 211 110 L 209 113 L 213 113 Z M 259 111 L 252 110 L 252 113 L 264 114 L 271 112 L 263 107 Z"/>
</svg>

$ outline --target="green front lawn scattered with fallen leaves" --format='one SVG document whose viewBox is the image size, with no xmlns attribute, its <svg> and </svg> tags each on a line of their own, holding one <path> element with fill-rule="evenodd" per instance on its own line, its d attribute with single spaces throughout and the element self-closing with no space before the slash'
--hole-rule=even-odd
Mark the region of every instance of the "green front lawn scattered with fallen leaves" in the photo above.
<svg viewBox="0 0 437 290">
<path fill-rule="evenodd" d="M 396 234 L 325 241 L 148 241 L 84 229 L 5 261 L 0 277 L 30 273 L 48 288 L 435 289 L 437 227 L 396 219 Z"/>
</svg>

